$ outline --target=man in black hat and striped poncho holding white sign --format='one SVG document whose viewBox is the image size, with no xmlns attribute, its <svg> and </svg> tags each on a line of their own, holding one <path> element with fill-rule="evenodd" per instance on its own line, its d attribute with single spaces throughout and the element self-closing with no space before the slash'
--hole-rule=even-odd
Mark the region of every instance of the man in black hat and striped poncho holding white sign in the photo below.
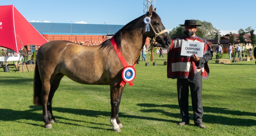
<svg viewBox="0 0 256 136">
<path fill-rule="evenodd" d="M 205 129 L 206 127 L 202 123 L 202 78 L 208 79 L 208 61 L 211 59 L 213 51 L 205 39 L 196 36 L 196 27 L 201 26 L 196 24 L 196 20 L 185 20 L 185 24 L 180 24 L 180 26 L 184 26 L 185 35 L 172 39 L 167 59 L 167 77 L 177 79 L 178 102 L 182 118 L 179 125 L 188 124 L 190 120 L 188 113 L 188 87 L 190 87 L 194 123 L 196 126 Z M 182 41 L 204 43 L 203 57 L 198 57 L 196 54 L 182 56 Z"/>
</svg>

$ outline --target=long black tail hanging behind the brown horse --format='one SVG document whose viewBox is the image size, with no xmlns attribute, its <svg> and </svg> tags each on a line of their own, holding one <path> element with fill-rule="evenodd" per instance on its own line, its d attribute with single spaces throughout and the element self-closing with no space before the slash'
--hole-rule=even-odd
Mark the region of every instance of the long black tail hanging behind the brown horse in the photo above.
<svg viewBox="0 0 256 136">
<path fill-rule="evenodd" d="M 42 105 L 41 102 L 42 81 L 38 70 L 37 61 L 35 61 L 34 72 L 34 105 Z"/>
</svg>

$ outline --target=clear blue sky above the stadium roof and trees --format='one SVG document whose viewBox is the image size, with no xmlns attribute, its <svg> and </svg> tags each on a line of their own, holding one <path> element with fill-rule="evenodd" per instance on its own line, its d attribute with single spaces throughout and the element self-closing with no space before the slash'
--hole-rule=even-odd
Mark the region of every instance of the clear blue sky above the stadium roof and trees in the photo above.
<svg viewBox="0 0 256 136">
<path fill-rule="evenodd" d="M 143 14 L 143 0 L 0 0 L 0 4 L 14 5 L 29 22 L 124 25 Z M 166 29 L 186 19 L 199 19 L 211 22 L 222 34 L 256 29 L 255 5 L 256 0 L 156 0 L 157 14 Z"/>
</svg>

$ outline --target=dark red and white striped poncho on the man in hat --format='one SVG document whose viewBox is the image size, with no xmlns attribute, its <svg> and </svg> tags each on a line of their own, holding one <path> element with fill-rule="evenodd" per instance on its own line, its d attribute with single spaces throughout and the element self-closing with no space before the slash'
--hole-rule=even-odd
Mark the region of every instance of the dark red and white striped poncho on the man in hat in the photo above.
<svg viewBox="0 0 256 136">
<path fill-rule="evenodd" d="M 200 57 L 199 62 L 195 62 L 193 57 L 181 56 L 181 46 L 182 41 L 194 41 L 204 43 L 203 57 Z M 193 37 L 175 37 L 172 39 L 172 44 L 168 52 L 167 61 L 167 77 L 176 79 L 189 79 L 194 81 L 194 77 L 197 68 L 201 69 L 202 79 L 208 79 L 210 70 L 208 67 L 208 61 L 212 57 L 212 48 L 203 38 L 193 36 Z"/>
</svg>

